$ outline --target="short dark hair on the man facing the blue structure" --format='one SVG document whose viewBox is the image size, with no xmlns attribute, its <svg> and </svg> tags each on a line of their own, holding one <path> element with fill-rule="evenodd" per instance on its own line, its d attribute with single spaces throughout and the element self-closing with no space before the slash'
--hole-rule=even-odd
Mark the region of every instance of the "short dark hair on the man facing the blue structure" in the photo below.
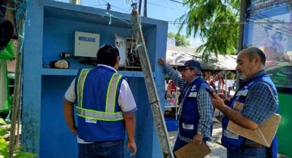
<svg viewBox="0 0 292 158">
<path fill-rule="evenodd" d="M 102 65 L 115 66 L 117 57 L 120 56 L 119 49 L 113 45 L 102 45 L 96 54 L 97 63 Z"/>
</svg>

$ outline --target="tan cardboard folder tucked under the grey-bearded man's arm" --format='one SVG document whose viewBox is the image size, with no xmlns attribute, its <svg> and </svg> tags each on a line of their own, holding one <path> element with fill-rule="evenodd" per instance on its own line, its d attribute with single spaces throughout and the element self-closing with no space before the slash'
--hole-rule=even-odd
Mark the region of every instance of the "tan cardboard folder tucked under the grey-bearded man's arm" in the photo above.
<svg viewBox="0 0 292 158">
<path fill-rule="evenodd" d="M 277 128 L 279 126 L 281 120 L 281 116 L 278 114 L 273 114 L 269 117 L 268 120 L 258 125 L 258 128 L 255 130 L 251 130 L 248 128 L 244 128 L 242 126 L 238 126 L 234 122 L 229 120 L 227 125 L 227 130 L 236 133 L 237 135 L 241 135 L 247 139 L 251 139 L 258 144 L 262 144 L 263 146 L 270 147 L 271 142 L 273 141 L 273 137 L 276 135 Z"/>
</svg>

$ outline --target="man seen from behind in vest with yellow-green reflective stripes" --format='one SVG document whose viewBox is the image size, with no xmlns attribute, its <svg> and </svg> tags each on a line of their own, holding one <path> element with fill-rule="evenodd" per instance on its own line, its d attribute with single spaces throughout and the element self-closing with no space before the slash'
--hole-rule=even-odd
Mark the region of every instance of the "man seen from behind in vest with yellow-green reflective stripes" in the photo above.
<svg viewBox="0 0 292 158">
<path fill-rule="evenodd" d="M 135 155 L 135 111 L 137 107 L 128 82 L 117 74 L 120 54 L 113 45 L 100 47 L 97 67 L 80 69 L 65 93 L 64 115 L 77 135 L 79 157 L 124 157 L 126 149 Z M 74 120 L 76 104 L 78 128 Z"/>
</svg>

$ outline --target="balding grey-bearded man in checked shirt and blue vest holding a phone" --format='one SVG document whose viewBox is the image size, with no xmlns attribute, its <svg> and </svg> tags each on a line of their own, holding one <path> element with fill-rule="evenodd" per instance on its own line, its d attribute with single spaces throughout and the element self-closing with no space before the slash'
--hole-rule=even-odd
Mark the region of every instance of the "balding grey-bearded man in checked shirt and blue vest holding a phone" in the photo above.
<svg viewBox="0 0 292 158">
<path fill-rule="evenodd" d="M 227 157 L 277 157 L 277 136 L 273 139 L 271 147 L 267 148 L 227 131 L 229 120 L 244 128 L 255 130 L 271 115 L 278 113 L 278 95 L 275 85 L 264 70 L 265 61 L 265 54 L 257 47 L 243 49 L 236 59 L 236 71 L 243 84 L 234 94 L 234 98 L 227 101 L 215 93 L 214 98 L 210 97 L 214 107 L 225 115 L 222 120 L 221 142 L 227 148 Z M 236 111 L 234 106 L 242 110 Z"/>
</svg>

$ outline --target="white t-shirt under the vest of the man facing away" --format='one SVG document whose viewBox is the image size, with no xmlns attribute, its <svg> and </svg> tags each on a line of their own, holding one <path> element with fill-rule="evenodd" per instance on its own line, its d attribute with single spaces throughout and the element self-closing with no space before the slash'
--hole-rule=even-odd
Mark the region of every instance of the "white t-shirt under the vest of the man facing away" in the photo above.
<svg viewBox="0 0 292 158">
<path fill-rule="evenodd" d="M 98 65 L 100 66 L 100 65 Z M 107 65 L 102 65 L 104 67 L 109 67 Z M 113 69 L 113 67 L 109 67 L 110 69 Z M 115 69 L 113 69 L 115 70 Z M 115 70 L 115 72 L 117 72 Z M 70 87 L 67 89 L 65 93 L 65 99 L 69 102 L 74 103 L 76 100 L 76 94 L 75 94 L 75 79 L 71 82 Z M 120 87 L 120 93 L 119 98 L 117 99 L 117 103 L 119 104 L 120 108 L 122 109 L 122 113 L 134 113 L 137 111 L 136 102 L 133 97 L 133 93 L 128 86 L 128 82 L 126 80 L 122 80 L 121 87 Z M 80 139 L 77 137 L 77 142 L 80 144 L 85 143 L 91 143 L 91 142 L 85 142 L 83 139 Z"/>
</svg>

